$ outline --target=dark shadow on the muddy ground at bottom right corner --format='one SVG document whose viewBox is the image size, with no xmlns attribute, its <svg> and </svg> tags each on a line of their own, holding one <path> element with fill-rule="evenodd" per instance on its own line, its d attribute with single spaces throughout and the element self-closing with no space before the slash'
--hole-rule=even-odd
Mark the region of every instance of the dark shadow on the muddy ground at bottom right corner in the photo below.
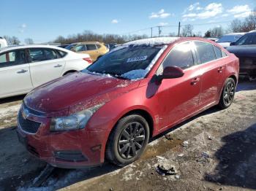
<svg viewBox="0 0 256 191">
<path fill-rule="evenodd" d="M 215 157 L 219 160 L 208 182 L 256 189 L 256 123 L 246 130 L 222 137 L 225 143 Z"/>
</svg>

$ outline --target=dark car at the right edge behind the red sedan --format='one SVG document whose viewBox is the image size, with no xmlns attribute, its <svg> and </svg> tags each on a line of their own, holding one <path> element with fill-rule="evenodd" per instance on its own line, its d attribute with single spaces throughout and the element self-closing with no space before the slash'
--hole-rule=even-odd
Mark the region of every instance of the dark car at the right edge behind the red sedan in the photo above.
<svg viewBox="0 0 256 191">
<path fill-rule="evenodd" d="M 256 79 L 256 31 L 245 34 L 230 45 L 227 50 L 240 61 L 239 75 L 249 77 L 250 80 Z"/>
</svg>

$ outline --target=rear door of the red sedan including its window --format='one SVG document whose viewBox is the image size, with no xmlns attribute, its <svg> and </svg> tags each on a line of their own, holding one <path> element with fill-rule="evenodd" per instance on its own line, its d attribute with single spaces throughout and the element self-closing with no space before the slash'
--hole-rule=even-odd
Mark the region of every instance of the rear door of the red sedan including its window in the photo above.
<svg viewBox="0 0 256 191">
<path fill-rule="evenodd" d="M 200 108 L 218 101 L 219 93 L 225 80 L 225 63 L 222 52 L 213 44 L 195 41 L 198 63 L 202 73 L 202 87 L 200 93 Z"/>
</svg>

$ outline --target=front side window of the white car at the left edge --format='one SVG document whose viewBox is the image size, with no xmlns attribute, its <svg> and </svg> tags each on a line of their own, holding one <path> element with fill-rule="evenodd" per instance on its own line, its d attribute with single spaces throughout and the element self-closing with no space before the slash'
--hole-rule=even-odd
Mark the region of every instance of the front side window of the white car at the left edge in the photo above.
<svg viewBox="0 0 256 191">
<path fill-rule="evenodd" d="M 0 55 L 0 68 L 26 63 L 25 51 L 14 50 Z"/>
</svg>

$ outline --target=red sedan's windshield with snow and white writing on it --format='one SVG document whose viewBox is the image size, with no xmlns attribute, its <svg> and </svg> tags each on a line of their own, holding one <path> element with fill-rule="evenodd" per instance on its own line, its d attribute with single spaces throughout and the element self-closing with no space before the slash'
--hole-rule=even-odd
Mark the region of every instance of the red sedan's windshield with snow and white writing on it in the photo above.
<svg viewBox="0 0 256 191">
<path fill-rule="evenodd" d="M 99 58 L 84 72 L 110 74 L 125 79 L 141 79 L 154 64 L 155 57 L 163 46 L 121 46 Z M 154 61 L 153 61 L 154 60 Z"/>
</svg>

